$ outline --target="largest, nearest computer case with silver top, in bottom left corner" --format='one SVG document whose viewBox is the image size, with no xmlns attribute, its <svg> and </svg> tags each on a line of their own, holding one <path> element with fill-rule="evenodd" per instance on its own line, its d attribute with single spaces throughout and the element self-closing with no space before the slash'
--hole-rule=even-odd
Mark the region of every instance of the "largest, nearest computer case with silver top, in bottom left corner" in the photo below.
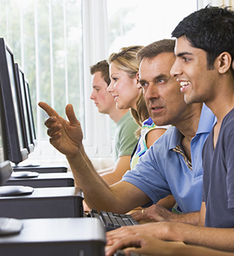
<svg viewBox="0 0 234 256">
<path fill-rule="evenodd" d="M 2 256 L 105 255 L 105 231 L 96 218 L 39 218 L 22 222 L 20 234 L 0 238 Z"/>
</svg>

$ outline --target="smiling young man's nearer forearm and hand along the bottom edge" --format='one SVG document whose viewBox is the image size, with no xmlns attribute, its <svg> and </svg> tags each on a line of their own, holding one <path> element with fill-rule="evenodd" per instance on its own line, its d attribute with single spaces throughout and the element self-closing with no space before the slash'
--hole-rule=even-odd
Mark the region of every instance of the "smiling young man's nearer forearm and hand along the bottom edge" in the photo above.
<svg viewBox="0 0 234 256">
<path fill-rule="evenodd" d="M 127 249 L 125 249 L 127 248 Z M 111 256 L 115 251 L 125 249 L 126 255 L 130 255 L 131 252 L 138 254 L 151 255 L 151 256 L 233 256 L 233 253 L 224 251 L 215 251 L 213 249 L 184 245 L 180 243 L 174 243 L 169 241 L 160 241 L 156 238 L 146 235 L 133 235 L 128 238 L 123 238 L 115 245 L 106 249 L 106 256 Z"/>
</svg>

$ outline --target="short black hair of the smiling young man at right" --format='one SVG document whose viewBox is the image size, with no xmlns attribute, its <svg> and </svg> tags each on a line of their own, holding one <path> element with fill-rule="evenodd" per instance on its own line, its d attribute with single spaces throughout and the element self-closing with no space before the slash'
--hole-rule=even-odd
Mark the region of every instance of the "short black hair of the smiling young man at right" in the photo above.
<svg viewBox="0 0 234 256">
<path fill-rule="evenodd" d="M 213 69 L 216 57 L 224 51 L 234 57 L 234 11 L 231 7 L 207 5 L 184 18 L 171 33 L 185 36 L 194 48 L 206 51 L 207 69 Z M 234 71 L 232 71 L 234 75 Z"/>
</svg>

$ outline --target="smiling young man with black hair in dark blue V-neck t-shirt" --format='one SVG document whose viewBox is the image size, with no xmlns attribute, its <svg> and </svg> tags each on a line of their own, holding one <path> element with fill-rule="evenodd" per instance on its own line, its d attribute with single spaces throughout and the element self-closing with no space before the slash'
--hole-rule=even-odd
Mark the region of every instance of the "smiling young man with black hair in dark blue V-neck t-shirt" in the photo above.
<svg viewBox="0 0 234 256">
<path fill-rule="evenodd" d="M 177 60 L 171 74 L 185 102 L 204 102 L 217 118 L 203 147 L 201 224 L 234 228 L 234 11 L 207 6 L 184 18 L 172 36 Z"/>
</svg>

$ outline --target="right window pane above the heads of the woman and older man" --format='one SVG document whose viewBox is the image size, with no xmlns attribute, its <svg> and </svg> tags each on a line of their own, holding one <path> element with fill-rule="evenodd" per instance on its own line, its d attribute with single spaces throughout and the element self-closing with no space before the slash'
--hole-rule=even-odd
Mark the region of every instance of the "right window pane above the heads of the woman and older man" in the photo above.
<svg viewBox="0 0 234 256">
<path fill-rule="evenodd" d="M 197 10 L 197 0 L 108 0 L 109 54 L 130 45 L 171 38 L 176 25 Z"/>
</svg>

